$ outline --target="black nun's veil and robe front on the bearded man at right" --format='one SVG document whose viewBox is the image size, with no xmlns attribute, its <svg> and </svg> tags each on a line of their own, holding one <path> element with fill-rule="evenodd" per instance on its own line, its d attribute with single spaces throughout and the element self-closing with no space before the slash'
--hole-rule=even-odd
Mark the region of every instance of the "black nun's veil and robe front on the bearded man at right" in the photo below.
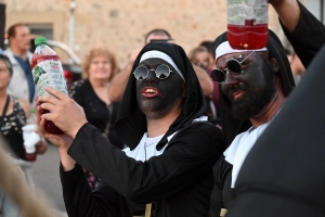
<svg viewBox="0 0 325 217">
<path fill-rule="evenodd" d="M 214 50 L 219 44 L 226 40 L 226 33 L 219 36 L 214 42 Z M 285 95 L 288 95 L 295 87 L 291 68 L 281 41 L 271 30 L 269 30 L 266 48 L 275 56 L 278 63 L 283 91 Z M 231 101 L 223 94 L 221 88 L 219 93 L 219 114 L 226 146 L 229 146 L 237 135 L 251 127 L 251 123 L 249 119 L 239 120 L 235 118 L 232 115 Z M 232 171 L 233 165 L 225 159 L 224 155 L 222 155 L 213 166 L 214 187 L 211 193 L 210 216 L 219 216 L 221 208 L 229 208 L 232 204 Z"/>
</svg>

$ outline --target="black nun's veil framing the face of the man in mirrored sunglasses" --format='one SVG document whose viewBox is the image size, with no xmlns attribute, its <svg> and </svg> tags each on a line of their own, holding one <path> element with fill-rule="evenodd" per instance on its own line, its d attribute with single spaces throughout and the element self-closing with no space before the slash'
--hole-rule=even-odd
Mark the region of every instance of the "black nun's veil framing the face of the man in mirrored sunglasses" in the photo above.
<svg viewBox="0 0 325 217">
<path fill-rule="evenodd" d="M 161 51 L 168 54 L 173 62 L 177 64 L 179 69 L 183 73 L 186 81 L 186 98 L 183 106 L 183 112 L 179 118 L 170 126 L 170 129 L 161 139 L 157 149 L 161 149 L 167 142 L 167 137 L 178 131 L 184 126 L 192 124 L 193 119 L 198 118 L 206 114 L 206 102 L 205 98 L 196 77 L 195 71 L 193 69 L 192 63 L 187 59 L 184 50 L 176 44 L 167 42 L 151 42 L 139 53 L 132 72 L 138 67 L 140 58 L 143 53 L 151 50 Z M 138 145 L 143 133 L 146 132 L 146 119 L 143 112 L 139 108 L 136 102 L 135 90 L 135 78 L 130 76 L 117 122 L 115 125 L 117 133 L 122 138 L 123 142 L 132 150 Z"/>
</svg>

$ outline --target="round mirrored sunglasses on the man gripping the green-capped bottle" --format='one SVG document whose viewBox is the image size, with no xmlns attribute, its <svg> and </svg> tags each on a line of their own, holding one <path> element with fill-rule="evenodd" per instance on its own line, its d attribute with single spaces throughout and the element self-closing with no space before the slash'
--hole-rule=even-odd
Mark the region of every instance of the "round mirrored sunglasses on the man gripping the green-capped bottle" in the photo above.
<svg viewBox="0 0 325 217">
<path fill-rule="evenodd" d="M 141 65 L 134 69 L 133 75 L 138 80 L 143 80 L 147 78 L 150 72 L 155 72 L 156 77 L 159 79 L 166 79 L 172 71 L 168 65 L 165 64 L 159 65 L 156 69 L 148 69 L 147 67 Z"/>
</svg>

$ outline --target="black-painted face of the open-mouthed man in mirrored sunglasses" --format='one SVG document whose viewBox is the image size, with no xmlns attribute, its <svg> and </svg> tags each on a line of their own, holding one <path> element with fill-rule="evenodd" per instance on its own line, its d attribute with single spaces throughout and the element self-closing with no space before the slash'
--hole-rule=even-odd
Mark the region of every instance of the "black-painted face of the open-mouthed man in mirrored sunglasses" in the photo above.
<svg viewBox="0 0 325 217">
<path fill-rule="evenodd" d="M 156 69 L 160 64 L 166 64 L 172 73 L 166 79 L 158 79 L 154 72 L 151 72 L 147 78 L 136 80 L 136 101 L 139 107 L 144 114 L 155 113 L 156 117 L 162 117 L 169 113 L 178 102 L 182 100 L 182 78 L 176 69 L 166 61 L 160 59 L 148 59 L 140 65 L 148 69 Z"/>
</svg>

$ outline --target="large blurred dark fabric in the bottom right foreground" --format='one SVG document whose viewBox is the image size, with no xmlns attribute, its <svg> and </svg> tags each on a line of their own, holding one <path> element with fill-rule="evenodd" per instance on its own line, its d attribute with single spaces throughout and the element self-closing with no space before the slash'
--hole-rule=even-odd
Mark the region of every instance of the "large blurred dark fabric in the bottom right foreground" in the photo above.
<svg viewBox="0 0 325 217">
<path fill-rule="evenodd" d="M 325 216 L 324 60 L 325 47 L 247 155 L 226 216 Z"/>
</svg>

